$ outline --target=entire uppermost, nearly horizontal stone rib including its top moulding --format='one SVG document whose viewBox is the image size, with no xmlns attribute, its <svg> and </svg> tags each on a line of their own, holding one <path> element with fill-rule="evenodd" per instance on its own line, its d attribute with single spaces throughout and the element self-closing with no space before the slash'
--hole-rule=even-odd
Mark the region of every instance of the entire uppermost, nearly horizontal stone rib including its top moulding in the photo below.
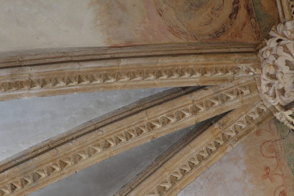
<svg viewBox="0 0 294 196">
<path fill-rule="evenodd" d="M 0 58 L 0 101 L 75 93 L 210 86 L 255 72 L 250 43 L 96 48 Z"/>
</svg>

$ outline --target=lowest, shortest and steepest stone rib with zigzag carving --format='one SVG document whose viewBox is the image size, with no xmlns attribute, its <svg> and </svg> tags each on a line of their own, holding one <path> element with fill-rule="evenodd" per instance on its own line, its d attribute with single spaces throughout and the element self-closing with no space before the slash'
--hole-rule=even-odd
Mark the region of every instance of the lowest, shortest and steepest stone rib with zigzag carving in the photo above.
<svg viewBox="0 0 294 196">
<path fill-rule="evenodd" d="M 198 125 L 114 196 L 175 196 L 272 118 L 258 101 Z"/>
</svg>

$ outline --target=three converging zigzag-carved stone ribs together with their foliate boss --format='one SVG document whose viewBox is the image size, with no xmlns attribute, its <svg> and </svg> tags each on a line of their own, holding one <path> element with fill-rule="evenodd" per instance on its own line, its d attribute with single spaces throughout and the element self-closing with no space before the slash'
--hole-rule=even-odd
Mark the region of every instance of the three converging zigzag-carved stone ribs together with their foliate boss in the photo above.
<svg viewBox="0 0 294 196">
<path fill-rule="evenodd" d="M 277 3 L 285 10 L 284 14 L 280 11 L 281 21 L 292 19 L 289 2 L 288 6 L 284 1 Z M 0 58 L 0 101 L 172 88 L 89 119 L 1 161 L 0 196 L 28 195 L 129 149 L 198 124 L 115 194 L 177 195 L 274 114 L 288 122 L 286 125 L 294 121 L 290 77 L 293 29 L 293 22 L 288 21 L 278 26 L 278 33 L 271 31 L 274 38 L 260 55 L 254 43 L 223 42 Z M 277 68 L 279 65 L 282 68 Z M 275 99 L 281 93 L 282 98 Z"/>
</svg>

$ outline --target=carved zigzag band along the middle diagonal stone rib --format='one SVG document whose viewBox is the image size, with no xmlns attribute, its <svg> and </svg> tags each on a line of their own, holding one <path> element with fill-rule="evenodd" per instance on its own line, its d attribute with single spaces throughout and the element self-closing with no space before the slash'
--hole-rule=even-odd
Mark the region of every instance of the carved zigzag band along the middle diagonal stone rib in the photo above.
<svg viewBox="0 0 294 196">
<path fill-rule="evenodd" d="M 45 167 L 38 168 L 28 175 L 18 177 L 17 180 L 9 182 L 9 184 L 7 184 L 6 187 L 0 187 L 0 196 L 8 195 L 9 193 L 15 192 L 23 187 L 30 185 L 31 183 L 39 182 L 40 180 L 54 174 L 55 172 L 58 172 L 59 170 L 64 170 L 65 168 L 71 165 L 79 163 L 102 151 L 108 150 L 111 147 L 121 145 L 121 143 L 124 143 L 128 140 L 133 140 L 134 138 L 139 137 L 147 132 L 152 132 L 171 123 L 180 120 L 185 120 L 191 116 L 195 116 L 198 113 L 204 112 L 205 110 L 208 110 L 210 108 L 214 108 L 229 100 L 233 100 L 235 98 L 244 96 L 249 93 L 253 93 L 255 91 L 256 84 L 254 83 L 248 83 L 244 84 L 243 86 L 233 87 L 230 88 L 228 91 L 220 92 L 218 95 L 208 97 L 206 99 L 193 103 L 192 105 L 187 105 L 185 108 L 181 108 L 176 111 L 173 111 L 172 113 L 162 115 L 156 119 L 146 121 L 146 123 L 136 125 L 133 127 L 133 129 L 123 130 L 121 131 L 121 133 L 116 133 L 112 137 L 98 140 L 96 141 L 96 143 L 93 143 L 85 149 L 78 150 L 75 153 L 69 155 L 68 157 L 61 157 L 59 160 L 51 162 Z M 260 110 L 257 110 L 257 112 L 258 111 Z M 250 116 L 251 113 L 247 115 Z M 206 150 L 203 150 L 203 152 L 199 152 L 197 156 L 200 156 L 202 158 L 198 160 L 203 161 L 210 153 L 212 153 L 216 148 L 218 148 L 218 146 L 223 143 L 223 136 L 224 135 L 219 136 L 219 138 L 216 138 L 212 141 L 211 144 L 205 147 Z M 193 163 L 192 158 L 190 162 L 191 164 Z"/>
</svg>

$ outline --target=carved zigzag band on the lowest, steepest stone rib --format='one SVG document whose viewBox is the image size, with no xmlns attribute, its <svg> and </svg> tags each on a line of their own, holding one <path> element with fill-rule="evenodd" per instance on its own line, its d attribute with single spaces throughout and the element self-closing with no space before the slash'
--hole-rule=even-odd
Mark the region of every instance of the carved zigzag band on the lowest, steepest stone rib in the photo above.
<svg viewBox="0 0 294 196">
<path fill-rule="evenodd" d="M 186 176 L 199 164 L 203 163 L 208 158 L 208 156 L 212 155 L 215 152 L 216 149 L 220 148 L 227 141 L 232 140 L 233 136 L 235 136 L 236 134 L 240 134 L 258 117 L 265 114 L 266 111 L 267 109 L 264 105 L 258 105 L 252 111 L 235 121 L 235 123 L 229 128 L 229 130 L 225 130 L 223 133 L 220 133 L 218 137 L 214 138 L 210 143 L 206 144 L 202 148 L 202 151 L 196 152 L 191 158 L 181 163 L 176 171 L 169 173 L 165 181 L 158 184 L 154 188 L 154 192 L 149 193 L 146 196 L 164 195 L 171 186 L 177 184 L 177 182 L 181 178 Z"/>
</svg>

